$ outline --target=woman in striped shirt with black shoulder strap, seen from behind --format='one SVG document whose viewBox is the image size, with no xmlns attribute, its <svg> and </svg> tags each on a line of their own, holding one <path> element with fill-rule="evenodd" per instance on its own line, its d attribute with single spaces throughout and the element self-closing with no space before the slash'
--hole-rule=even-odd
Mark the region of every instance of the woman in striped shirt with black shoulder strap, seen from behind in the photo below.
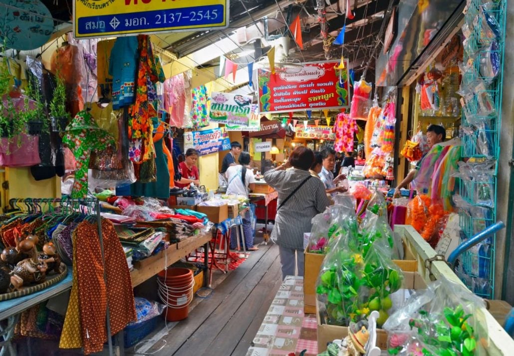
<svg viewBox="0 0 514 356">
<path fill-rule="evenodd" d="M 300 146 L 286 164 L 264 174 L 279 193 L 271 240 L 279 245 L 282 279 L 295 275 L 295 267 L 303 276 L 303 234 L 310 233 L 311 219 L 329 205 L 325 186 L 309 173 L 313 162 L 313 151 Z"/>
</svg>

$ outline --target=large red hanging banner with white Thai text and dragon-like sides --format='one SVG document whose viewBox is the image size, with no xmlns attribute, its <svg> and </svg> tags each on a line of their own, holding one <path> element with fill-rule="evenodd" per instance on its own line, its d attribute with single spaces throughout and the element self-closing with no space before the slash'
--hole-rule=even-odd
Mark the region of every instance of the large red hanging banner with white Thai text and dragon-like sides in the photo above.
<svg viewBox="0 0 514 356">
<path fill-rule="evenodd" d="M 301 66 L 259 69 L 261 113 L 283 113 L 303 110 L 340 109 L 350 106 L 348 60 L 345 68 L 339 62 L 303 63 Z"/>
</svg>

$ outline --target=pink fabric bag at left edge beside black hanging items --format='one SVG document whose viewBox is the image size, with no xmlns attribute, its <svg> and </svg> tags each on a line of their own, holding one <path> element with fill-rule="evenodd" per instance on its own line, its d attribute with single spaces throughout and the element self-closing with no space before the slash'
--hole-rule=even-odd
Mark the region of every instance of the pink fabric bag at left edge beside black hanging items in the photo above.
<svg viewBox="0 0 514 356">
<path fill-rule="evenodd" d="M 0 166 L 29 167 L 40 163 L 39 136 L 19 134 L 0 139 Z"/>
</svg>

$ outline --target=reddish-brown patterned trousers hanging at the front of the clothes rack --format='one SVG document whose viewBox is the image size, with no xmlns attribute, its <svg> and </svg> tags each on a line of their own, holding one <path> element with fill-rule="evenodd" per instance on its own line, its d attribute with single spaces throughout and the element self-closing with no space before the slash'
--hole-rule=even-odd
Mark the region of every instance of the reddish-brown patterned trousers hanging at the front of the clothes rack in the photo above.
<svg viewBox="0 0 514 356">
<path fill-rule="evenodd" d="M 112 335 L 137 319 L 132 282 L 123 247 L 111 222 L 102 220 L 101 228 L 105 255 L 104 265 L 102 265 L 97 225 L 84 220 L 74 231 L 73 264 L 76 270 L 74 272 L 77 272 L 74 273 L 74 282 L 76 280 L 75 290 L 78 297 L 80 320 L 77 323 L 76 310 L 70 310 L 70 313 L 74 313 L 70 314 L 70 318 L 74 318 L 75 324 L 71 325 L 65 320 L 65 328 L 61 336 L 63 343 L 63 337 L 73 336 L 70 335 L 70 329 L 73 328 L 76 332 L 78 325 L 80 332 L 76 335 L 82 336 L 82 347 L 86 355 L 101 351 L 106 342 L 107 305 L 109 306 Z M 104 270 L 106 283 L 103 277 Z M 72 284 L 72 294 L 73 292 Z M 70 304 L 71 302 L 70 297 Z M 68 319 L 68 311 L 66 319 Z M 77 342 L 77 340 L 74 341 Z"/>
</svg>

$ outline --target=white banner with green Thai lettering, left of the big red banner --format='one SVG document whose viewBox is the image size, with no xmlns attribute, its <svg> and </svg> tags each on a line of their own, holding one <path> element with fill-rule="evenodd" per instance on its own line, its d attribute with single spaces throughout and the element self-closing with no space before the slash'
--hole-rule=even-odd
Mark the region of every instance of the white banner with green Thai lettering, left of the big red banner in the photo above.
<svg viewBox="0 0 514 356">
<path fill-rule="evenodd" d="M 212 92 L 210 121 L 249 126 L 252 96 Z"/>
</svg>

